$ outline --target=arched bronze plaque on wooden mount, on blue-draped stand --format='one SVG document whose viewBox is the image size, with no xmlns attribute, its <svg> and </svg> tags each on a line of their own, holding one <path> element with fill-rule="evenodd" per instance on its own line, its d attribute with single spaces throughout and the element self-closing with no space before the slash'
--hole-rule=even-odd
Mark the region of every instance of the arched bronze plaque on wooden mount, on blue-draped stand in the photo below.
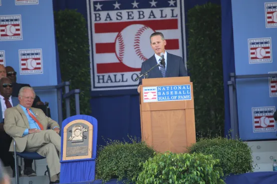
<svg viewBox="0 0 277 184">
<path fill-rule="evenodd" d="M 93 125 L 78 119 L 63 128 L 62 160 L 87 159 L 92 157 Z"/>
</svg>

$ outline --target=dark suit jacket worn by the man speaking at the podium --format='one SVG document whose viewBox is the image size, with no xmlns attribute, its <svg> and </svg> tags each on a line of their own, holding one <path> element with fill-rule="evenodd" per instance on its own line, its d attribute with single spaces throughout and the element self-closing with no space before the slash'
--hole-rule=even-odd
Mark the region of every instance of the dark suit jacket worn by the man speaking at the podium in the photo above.
<svg viewBox="0 0 277 184">
<path fill-rule="evenodd" d="M 151 58 L 149 58 L 148 60 L 144 61 L 141 64 L 140 74 L 144 74 L 155 65 L 157 65 L 157 60 L 154 54 Z M 185 68 L 183 58 L 167 52 L 167 67 L 166 67 L 165 77 L 185 77 L 185 76 L 188 76 L 188 74 Z M 148 73 L 148 78 L 162 78 L 162 77 L 163 77 L 162 73 L 158 66 Z M 142 79 L 143 77 L 139 79 L 139 85 L 142 84 Z"/>
</svg>

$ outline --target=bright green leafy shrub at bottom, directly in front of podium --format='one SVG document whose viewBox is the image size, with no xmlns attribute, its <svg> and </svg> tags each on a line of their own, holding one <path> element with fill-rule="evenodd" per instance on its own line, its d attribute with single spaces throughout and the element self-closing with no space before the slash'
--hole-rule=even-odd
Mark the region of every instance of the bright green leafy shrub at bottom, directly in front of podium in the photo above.
<svg viewBox="0 0 277 184">
<path fill-rule="evenodd" d="M 211 155 L 158 154 L 143 163 L 136 184 L 225 184 L 219 160 Z"/>
</svg>

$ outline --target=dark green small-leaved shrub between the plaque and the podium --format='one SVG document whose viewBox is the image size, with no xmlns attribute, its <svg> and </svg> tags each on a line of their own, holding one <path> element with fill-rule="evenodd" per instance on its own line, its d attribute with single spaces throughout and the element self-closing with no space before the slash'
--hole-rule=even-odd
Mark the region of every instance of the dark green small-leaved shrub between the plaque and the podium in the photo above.
<svg viewBox="0 0 277 184">
<path fill-rule="evenodd" d="M 154 156 L 154 149 L 146 143 L 130 138 L 131 143 L 126 141 L 109 140 L 107 145 L 99 148 L 96 159 L 96 179 L 103 183 L 117 179 L 124 183 L 131 183 L 134 176 L 142 171 L 139 167 L 141 162 Z"/>
</svg>

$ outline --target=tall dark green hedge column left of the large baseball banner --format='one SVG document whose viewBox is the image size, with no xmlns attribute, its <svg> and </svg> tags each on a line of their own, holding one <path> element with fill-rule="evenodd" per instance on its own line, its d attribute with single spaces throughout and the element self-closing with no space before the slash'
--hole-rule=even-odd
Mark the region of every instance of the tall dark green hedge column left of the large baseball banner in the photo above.
<svg viewBox="0 0 277 184">
<path fill-rule="evenodd" d="M 91 83 L 86 20 L 81 13 L 73 9 L 54 12 L 54 20 L 61 80 L 62 82 L 70 82 L 70 90 L 80 89 L 80 114 L 90 115 Z M 65 113 L 65 109 L 63 112 Z M 73 98 L 70 99 L 71 116 L 75 112 L 75 100 Z"/>
</svg>

